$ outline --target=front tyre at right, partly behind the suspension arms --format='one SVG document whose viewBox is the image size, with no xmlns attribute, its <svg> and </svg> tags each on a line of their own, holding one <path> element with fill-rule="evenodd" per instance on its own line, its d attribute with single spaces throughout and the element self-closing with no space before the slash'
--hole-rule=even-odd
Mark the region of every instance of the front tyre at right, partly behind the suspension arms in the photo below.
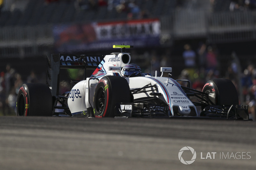
<svg viewBox="0 0 256 170">
<path fill-rule="evenodd" d="M 211 105 L 238 105 L 235 85 L 226 78 L 211 79 L 206 82 L 202 92 L 209 95 Z M 202 108 L 203 109 L 203 108 Z"/>
</svg>

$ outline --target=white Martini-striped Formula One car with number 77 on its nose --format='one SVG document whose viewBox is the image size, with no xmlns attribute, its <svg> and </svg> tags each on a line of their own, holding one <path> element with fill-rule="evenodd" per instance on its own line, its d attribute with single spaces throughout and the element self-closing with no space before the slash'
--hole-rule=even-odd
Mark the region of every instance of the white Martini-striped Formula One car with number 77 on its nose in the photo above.
<svg viewBox="0 0 256 170">
<path fill-rule="evenodd" d="M 238 105 L 233 83 L 224 78 L 206 82 L 201 91 L 190 88 L 188 80 L 170 78 L 171 67 L 161 67 L 161 77 L 142 73 L 131 64 L 126 48 L 105 56 L 61 55 L 47 57 L 45 84 L 24 84 L 17 98 L 18 116 L 85 117 L 213 117 L 248 119 L 248 106 Z M 70 92 L 59 95 L 60 69 L 94 70 Z M 167 77 L 163 77 L 167 72 Z M 157 75 L 157 74 L 156 74 Z M 178 82 L 185 82 L 183 86 Z M 191 101 L 190 97 L 197 98 Z"/>
</svg>

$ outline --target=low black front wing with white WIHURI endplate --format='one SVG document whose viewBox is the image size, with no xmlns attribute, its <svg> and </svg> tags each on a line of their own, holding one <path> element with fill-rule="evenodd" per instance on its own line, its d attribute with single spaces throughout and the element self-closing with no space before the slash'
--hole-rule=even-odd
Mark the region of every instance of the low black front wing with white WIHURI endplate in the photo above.
<svg viewBox="0 0 256 170">
<path fill-rule="evenodd" d="M 191 115 L 169 116 L 168 107 L 151 103 L 116 103 L 117 117 L 197 117 Z M 249 120 L 248 105 L 216 106 L 209 105 L 201 112 L 200 118 Z"/>
</svg>

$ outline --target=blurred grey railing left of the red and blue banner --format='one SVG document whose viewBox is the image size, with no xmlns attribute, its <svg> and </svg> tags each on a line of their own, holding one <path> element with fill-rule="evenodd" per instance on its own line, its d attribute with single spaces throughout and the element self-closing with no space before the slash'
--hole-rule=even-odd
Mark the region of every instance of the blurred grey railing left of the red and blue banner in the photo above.
<svg viewBox="0 0 256 170">
<path fill-rule="evenodd" d="M 40 55 L 54 43 L 52 26 L 6 26 L 0 29 L 0 57 Z"/>
</svg>

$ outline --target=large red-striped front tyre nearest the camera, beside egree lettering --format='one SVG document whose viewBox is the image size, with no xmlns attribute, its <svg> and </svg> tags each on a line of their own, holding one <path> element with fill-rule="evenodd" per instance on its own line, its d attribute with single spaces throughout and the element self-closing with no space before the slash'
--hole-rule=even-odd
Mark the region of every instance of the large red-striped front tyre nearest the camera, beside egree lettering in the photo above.
<svg viewBox="0 0 256 170">
<path fill-rule="evenodd" d="M 96 86 L 93 98 L 95 117 L 114 117 L 116 103 L 131 103 L 132 94 L 123 77 L 105 76 Z"/>
</svg>

